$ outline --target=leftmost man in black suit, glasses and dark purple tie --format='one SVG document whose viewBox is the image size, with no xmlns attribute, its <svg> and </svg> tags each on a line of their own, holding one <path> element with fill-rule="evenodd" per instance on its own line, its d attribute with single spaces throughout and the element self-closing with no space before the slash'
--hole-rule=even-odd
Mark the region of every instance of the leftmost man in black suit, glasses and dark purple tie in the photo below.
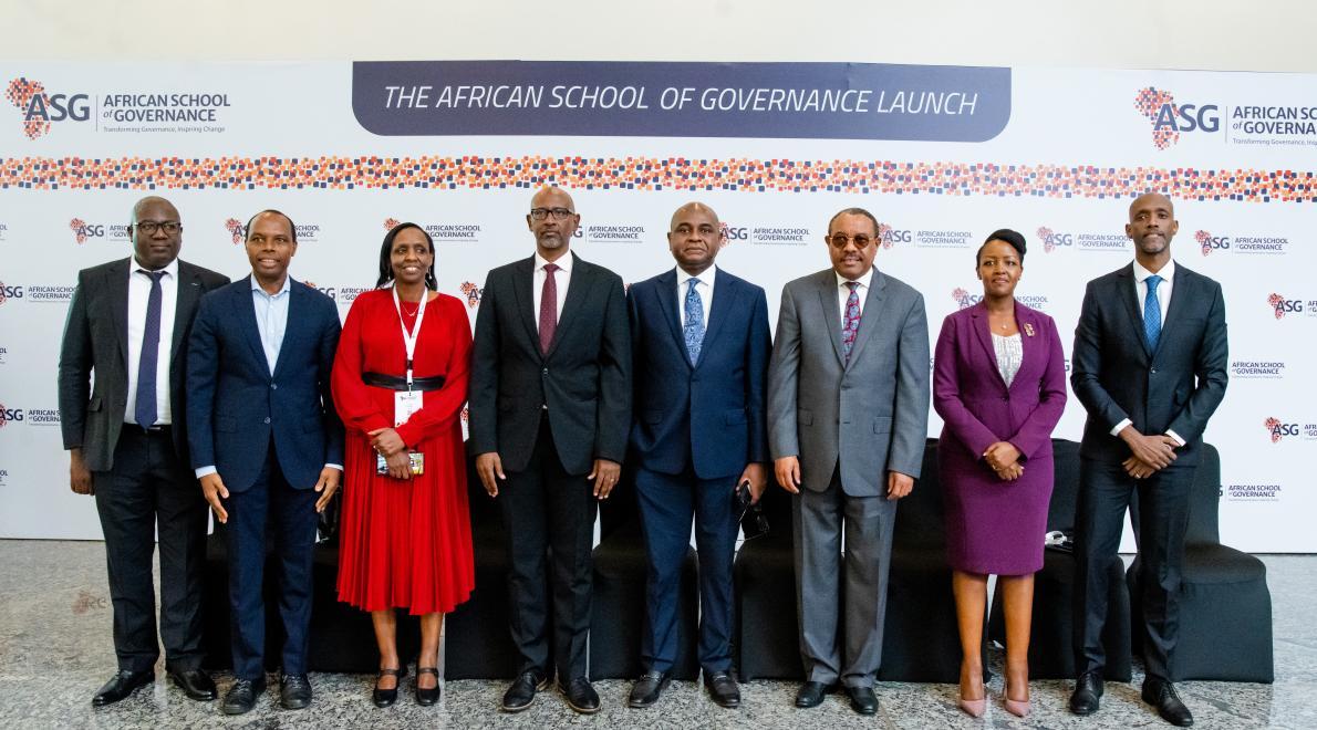
<svg viewBox="0 0 1317 730">
<path fill-rule="evenodd" d="M 132 258 L 78 272 L 59 353 L 70 483 L 96 496 L 115 606 L 119 672 L 97 706 L 155 680 L 157 527 L 166 668 L 188 697 L 216 696 L 202 671 L 205 500 L 188 468 L 183 371 L 202 295 L 229 280 L 178 259 L 183 225 L 163 197 L 138 200 L 130 222 Z"/>
</svg>

